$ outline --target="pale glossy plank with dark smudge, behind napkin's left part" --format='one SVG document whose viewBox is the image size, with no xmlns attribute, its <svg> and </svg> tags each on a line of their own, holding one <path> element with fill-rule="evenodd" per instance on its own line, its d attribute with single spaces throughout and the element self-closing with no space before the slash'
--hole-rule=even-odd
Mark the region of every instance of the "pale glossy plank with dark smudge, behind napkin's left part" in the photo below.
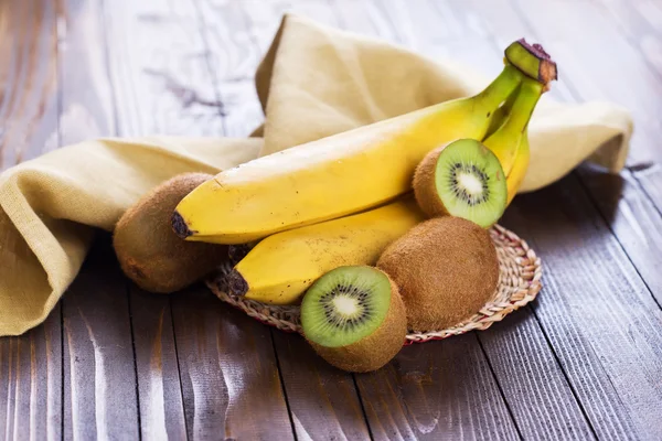
<svg viewBox="0 0 662 441">
<path fill-rule="evenodd" d="M 119 133 L 217 136 L 221 104 L 192 1 L 104 2 Z"/>
</svg>

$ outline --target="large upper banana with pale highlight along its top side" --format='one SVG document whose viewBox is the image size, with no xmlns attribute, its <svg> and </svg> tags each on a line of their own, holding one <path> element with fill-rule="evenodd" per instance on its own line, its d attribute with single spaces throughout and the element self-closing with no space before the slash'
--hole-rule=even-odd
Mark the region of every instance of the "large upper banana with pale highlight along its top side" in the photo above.
<svg viewBox="0 0 662 441">
<path fill-rule="evenodd" d="M 217 174 L 177 207 L 188 240 L 243 244 L 382 205 L 410 191 L 420 160 L 458 138 L 483 139 L 525 78 L 506 64 L 483 92 L 259 158 Z"/>
</svg>

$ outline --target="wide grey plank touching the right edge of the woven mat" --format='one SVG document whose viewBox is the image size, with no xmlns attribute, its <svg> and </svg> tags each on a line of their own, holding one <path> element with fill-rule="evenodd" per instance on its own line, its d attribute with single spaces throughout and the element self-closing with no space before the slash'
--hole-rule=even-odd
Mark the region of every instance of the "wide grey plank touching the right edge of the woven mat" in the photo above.
<svg viewBox="0 0 662 441">
<path fill-rule="evenodd" d="M 535 315 L 598 438 L 660 438 L 660 308 L 577 179 L 521 196 L 505 225 L 545 259 Z"/>
</svg>

